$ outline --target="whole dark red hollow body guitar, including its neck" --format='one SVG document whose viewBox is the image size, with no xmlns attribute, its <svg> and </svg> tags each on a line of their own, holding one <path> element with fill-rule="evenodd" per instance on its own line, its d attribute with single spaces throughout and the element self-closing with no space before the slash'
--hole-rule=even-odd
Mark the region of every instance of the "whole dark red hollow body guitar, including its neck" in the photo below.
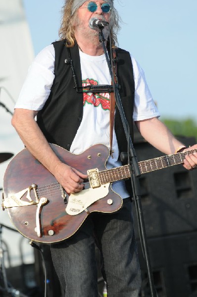
<svg viewBox="0 0 197 297">
<path fill-rule="evenodd" d="M 122 198 L 113 192 L 111 184 L 130 177 L 128 165 L 106 169 L 109 150 L 104 145 L 95 145 L 79 155 L 50 146 L 62 162 L 88 173 L 80 193 L 67 197 L 54 176 L 27 148 L 10 161 L 3 180 L 3 209 L 7 208 L 13 225 L 23 236 L 43 244 L 71 237 L 91 212 L 118 211 Z M 183 163 L 185 154 L 194 151 L 141 161 L 140 172 Z"/>
</svg>

